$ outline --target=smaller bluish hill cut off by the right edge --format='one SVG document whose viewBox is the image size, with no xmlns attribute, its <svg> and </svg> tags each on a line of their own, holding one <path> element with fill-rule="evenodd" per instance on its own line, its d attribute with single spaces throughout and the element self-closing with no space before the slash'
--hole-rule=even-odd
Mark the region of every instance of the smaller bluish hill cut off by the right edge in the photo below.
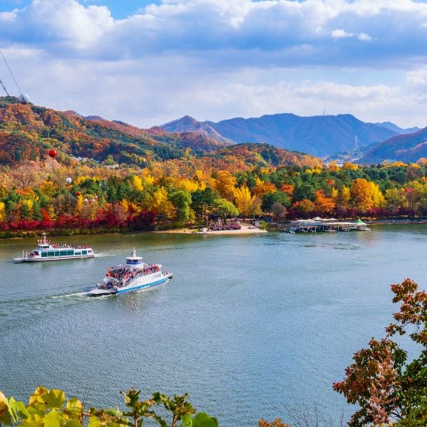
<svg viewBox="0 0 427 427">
<path fill-rule="evenodd" d="M 406 135 L 397 135 L 364 152 L 359 160 L 363 164 L 381 163 L 384 160 L 417 162 L 427 157 L 427 127 Z"/>
</svg>

